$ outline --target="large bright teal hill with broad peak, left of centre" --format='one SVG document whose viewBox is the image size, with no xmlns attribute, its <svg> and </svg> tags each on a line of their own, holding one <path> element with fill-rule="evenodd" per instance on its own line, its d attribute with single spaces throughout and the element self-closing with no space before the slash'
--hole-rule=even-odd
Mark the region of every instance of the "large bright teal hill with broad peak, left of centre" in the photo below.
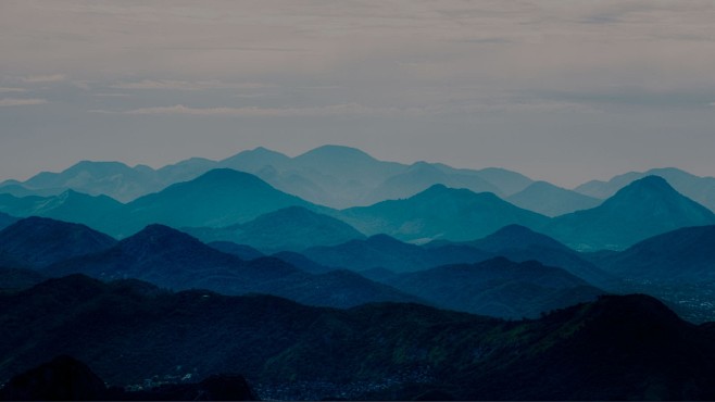
<svg viewBox="0 0 715 402">
<path fill-rule="evenodd" d="M 251 174 L 213 169 L 128 203 L 126 213 L 115 223 L 121 229 L 114 234 L 124 237 L 152 223 L 172 227 L 225 227 L 291 205 L 312 206 Z"/>
</svg>

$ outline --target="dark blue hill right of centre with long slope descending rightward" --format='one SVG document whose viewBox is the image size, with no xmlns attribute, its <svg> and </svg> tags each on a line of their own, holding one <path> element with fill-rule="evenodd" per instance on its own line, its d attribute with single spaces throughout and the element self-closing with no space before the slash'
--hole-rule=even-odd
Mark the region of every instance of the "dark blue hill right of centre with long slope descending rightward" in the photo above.
<svg viewBox="0 0 715 402">
<path fill-rule="evenodd" d="M 535 260 L 545 265 L 557 266 L 591 285 L 605 289 L 610 289 L 616 280 L 614 276 L 584 260 L 578 252 L 547 235 L 519 225 L 505 226 L 466 244 L 496 255 L 503 255 L 512 261 Z"/>
</svg>

